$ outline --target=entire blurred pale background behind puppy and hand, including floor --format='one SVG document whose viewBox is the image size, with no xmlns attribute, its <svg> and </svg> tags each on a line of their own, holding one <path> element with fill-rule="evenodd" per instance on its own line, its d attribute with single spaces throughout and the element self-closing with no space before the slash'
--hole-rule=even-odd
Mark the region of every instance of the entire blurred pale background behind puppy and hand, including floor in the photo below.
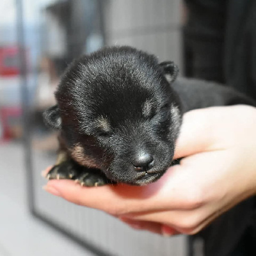
<svg viewBox="0 0 256 256">
<path fill-rule="evenodd" d="M 68 63 L 132 45 L 182 66 L 180 0 L 0 1 L 0 256 L 186 255 L 186 237 L 138 232 L 45 193 L 56 134 L 44 109 Z"/>
</svg>

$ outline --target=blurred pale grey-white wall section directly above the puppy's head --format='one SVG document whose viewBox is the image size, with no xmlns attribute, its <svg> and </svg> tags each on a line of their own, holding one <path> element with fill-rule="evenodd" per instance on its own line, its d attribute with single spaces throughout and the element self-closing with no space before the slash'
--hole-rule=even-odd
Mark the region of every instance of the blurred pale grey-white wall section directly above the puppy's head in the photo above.
<svg viewBox="0 0 256 256">
<path fill-rule="evenodd" d="M 108 45 L 131 45 L 181 65 L 180 0 L 107 1 Z"/>
</svg>

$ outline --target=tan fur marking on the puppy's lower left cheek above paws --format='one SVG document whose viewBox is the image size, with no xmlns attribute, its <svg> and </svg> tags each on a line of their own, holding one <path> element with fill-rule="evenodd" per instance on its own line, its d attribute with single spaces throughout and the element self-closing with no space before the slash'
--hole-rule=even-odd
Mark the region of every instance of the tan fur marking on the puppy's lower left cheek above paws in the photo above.
<svg viewBox="0 0 256 256">
<path fill-rule="evenodd" d="M 70 154 L 74 160 L 77 161 L 77 163 L 86 166 L 88 168 L 99 168 L 97 163 L 90 157 L 84 155 L 84 150 L 79 143 L 75 145 L 75 147 L 70 149 Z"/>
</svg>

